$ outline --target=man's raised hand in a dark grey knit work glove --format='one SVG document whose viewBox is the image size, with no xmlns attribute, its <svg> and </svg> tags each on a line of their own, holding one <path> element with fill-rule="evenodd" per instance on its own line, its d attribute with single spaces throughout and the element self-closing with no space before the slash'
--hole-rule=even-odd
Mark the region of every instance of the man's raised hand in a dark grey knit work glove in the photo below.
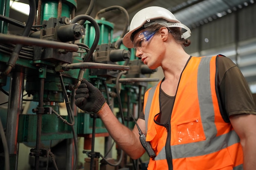
<svg viewBox="0 0 256 170">
<path fill-rule="evenodd" d="M 87 80 L 83 80 L 78 86 L 75 99 L 76 106 L 81 110 L 94 113 L 98 113 L 106 103 L 106 99 L 101 91 Z"/>
</svg>

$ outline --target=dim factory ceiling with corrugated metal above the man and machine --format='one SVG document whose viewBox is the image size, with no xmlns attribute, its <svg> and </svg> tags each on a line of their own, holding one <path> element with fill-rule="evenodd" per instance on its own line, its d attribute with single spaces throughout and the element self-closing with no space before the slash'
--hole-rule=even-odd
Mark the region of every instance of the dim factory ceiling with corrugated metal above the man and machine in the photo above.
<svg viewBox="0 0 256 170">
<path fill-rule="evenodd" d="M 16 0 L 17 1 L 17 0 Z M 28 0 L 19 0 L 19 2 L 28 3 Z M 65 0 L 63 0 L 65 2 Z M 124 12 L 120 10 L 111 10 L 99 14 L 99 17 L 106 18 L 107 21 L 114 24 L 114 36 L 121 34 L 126 22 L 130 23 L 132 17 L 145 7 L 159 6 L 169 9 L 175 14 L 176 18 L 183 24 L 193 29 L 201 24 L 211 22 L 224 15 L 228 15 L 245 6 L 254 3 L 254 0 L 76 0 L 77 9 L 75 15 L 85 14 L 91 3 L 94 4 L 90 16 L 93 18 L 101 9 L 112 6 L 120 6 L 126 9 L 129 15 L 129 21 Z M 20 22 L 26 22 L 27 16 L 10 9 L 10 18 Z M 20 28 L 9 26 L 11 34 L 20 33 Z"/>
</svg>

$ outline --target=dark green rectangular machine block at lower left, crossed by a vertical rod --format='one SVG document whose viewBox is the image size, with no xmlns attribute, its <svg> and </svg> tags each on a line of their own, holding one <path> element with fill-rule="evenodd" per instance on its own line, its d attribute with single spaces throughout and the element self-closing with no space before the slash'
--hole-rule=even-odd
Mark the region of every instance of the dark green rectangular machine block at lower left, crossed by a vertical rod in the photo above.
<svg viewBox="0 0 256 170">
<path fill-rule="evenodd" d="M 62 117 L 69 121 L 67 116 Z M 75 122 L 77 122 L 77 117 L 75 117 Z M 20 115 L 18 142 L 36 141 L 36 126 L 37 115 Z M 74 124 L 74 129 L 75 131 L 77 129 L 76 123 Z M 73 138 L 72 128 L 64 124 L 61 119 L 58 119 L 54 114 L 43 115 L 41 130 L 41 141 Z"/>
</svg>

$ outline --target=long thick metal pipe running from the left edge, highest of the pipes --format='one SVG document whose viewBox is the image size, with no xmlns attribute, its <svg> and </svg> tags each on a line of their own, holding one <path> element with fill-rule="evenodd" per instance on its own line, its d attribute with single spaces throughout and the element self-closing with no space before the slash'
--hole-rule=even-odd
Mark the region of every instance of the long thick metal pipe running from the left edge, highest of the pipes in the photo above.
<svg viewBox="0 0 256 170">
<path fill-rule="evenodd" d="M 0 34 L 0 43 L 23 44 L 28 46 L 43 46 L 53 49 L 65 49 L 69 51 L 78 51 L 79 49 L 78 45 L 76 44 L 68 44 L 65 42 L 56 42 L 38 38 L 29 38 L 5 34 Z"/>
</svg>

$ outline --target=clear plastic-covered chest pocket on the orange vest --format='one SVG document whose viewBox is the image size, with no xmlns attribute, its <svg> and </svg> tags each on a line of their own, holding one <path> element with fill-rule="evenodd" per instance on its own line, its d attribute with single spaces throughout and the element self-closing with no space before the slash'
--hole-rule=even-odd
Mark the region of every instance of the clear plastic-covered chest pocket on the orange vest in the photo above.
<svg viewBox="0 0 256 170">
<path fill-rule="evenodd" d="M 195 118 L 177 124 L 177 144 L 187 144 L 205 139 L 204 129 L 200 118 Z"/>
</svg>

